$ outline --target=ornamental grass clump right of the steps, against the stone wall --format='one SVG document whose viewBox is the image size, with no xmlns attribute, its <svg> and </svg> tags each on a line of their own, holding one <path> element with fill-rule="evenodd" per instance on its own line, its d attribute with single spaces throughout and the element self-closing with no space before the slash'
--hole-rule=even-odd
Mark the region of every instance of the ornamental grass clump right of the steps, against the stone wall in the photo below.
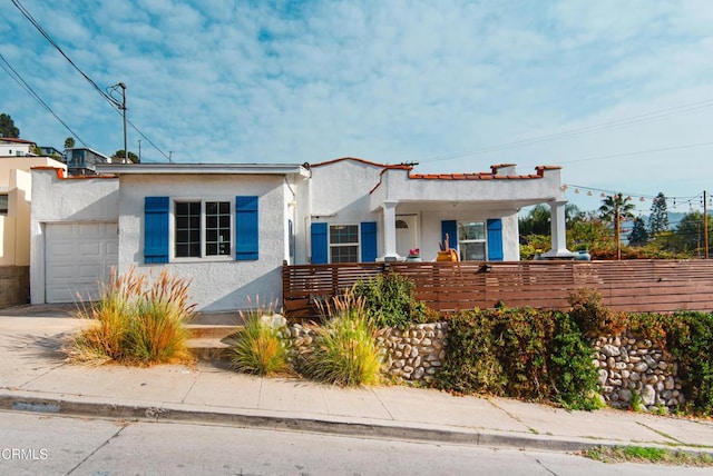
<svg viewBox="0 0 713 476">
<path fill-rule="evenodd" d="M 314 327 L 312 353 L 302 370 L 319 381 L 342 386 L 380 381 L 382 355 L 375 329 L 364 315 L 364 300 L 351 292 L 323 308 L 325 323 Z"/>
</svg>

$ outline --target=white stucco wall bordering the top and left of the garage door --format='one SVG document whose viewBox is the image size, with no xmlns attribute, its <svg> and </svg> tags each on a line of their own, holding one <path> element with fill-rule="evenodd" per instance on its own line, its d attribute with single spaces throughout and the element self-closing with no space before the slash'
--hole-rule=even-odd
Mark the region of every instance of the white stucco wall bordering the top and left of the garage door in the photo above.
<svg viewBox="0 0 713 476">
<path fill-rule="evenodd" d="M 58 177 L 60 169 L 32 170 L 30 299 L 45 303 L 45 224 L 117 221 L 119 180 Z"/>
</svg>

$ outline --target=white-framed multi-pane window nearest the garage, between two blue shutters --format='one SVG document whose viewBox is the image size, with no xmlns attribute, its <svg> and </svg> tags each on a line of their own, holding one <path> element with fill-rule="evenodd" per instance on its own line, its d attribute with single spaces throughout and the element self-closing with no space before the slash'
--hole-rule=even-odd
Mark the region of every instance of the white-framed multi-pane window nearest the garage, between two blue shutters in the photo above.
<svg viewBox="0 0 713 476">
<path fill-rule="evenodd" d="M 231 255 L 229 201 L 176 201 L 176 258 Z"/>
</svg>

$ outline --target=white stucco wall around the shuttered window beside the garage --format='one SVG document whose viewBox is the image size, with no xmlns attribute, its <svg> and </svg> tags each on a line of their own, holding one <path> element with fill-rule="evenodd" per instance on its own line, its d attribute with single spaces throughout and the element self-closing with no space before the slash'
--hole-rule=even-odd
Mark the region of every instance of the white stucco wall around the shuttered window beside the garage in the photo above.
<svg viewBox="0 0 713 476">
<path fill-rule="evenodd" d="M 203 311 L 247 308 L 251 301 L 282 303 L 281 270 L 287 259 L 287 214 L 294 200 L 283 176 L 219 175 L 124 175 L 119 209 L 119 271 L 136 265 L 141 272 L 156 275 L 166 267 L 173 274 L 192 279 L 192 300 Z M 144 198 L 218 199 L 235 201 L 235 196 L 258 196 L 260 259 L 195 259 L 168 265 L 144 264 Z M 227 257 L 226 257 L 227 258 Z"/>
</svg>

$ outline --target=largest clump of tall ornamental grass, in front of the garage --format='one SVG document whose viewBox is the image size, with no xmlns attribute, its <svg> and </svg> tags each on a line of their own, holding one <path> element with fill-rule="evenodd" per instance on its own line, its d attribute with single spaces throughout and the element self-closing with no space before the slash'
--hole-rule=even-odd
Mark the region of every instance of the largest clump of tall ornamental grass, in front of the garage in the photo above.
<svg viewBox="0 0 713 476">
<path fill-rule="evenodd" d="M 104 364 L 156 364 L 189 360 L 185 324 L 193 317 L 188 304 L 189 281 L 163 270 L 148 285 L 131 268 L 111 271 L 99 299 L 77 310 L 77 317 L 94 320 L 65 349 L 74 361 Z"/>
</svg>

